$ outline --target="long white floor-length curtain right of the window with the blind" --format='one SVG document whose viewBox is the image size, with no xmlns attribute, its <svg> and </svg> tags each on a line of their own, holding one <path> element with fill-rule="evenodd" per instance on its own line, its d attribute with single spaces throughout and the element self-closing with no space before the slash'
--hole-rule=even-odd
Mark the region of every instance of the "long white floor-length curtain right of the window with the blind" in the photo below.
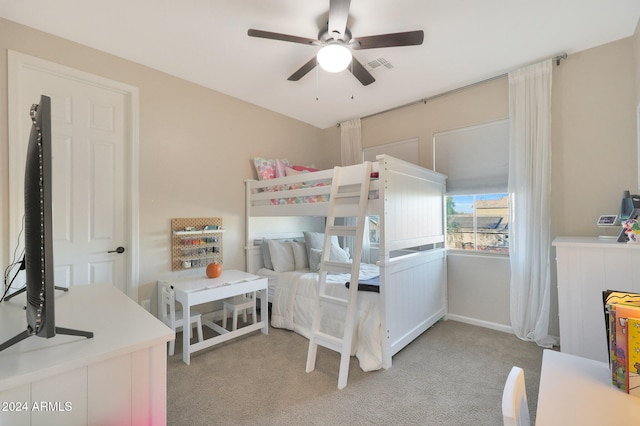
<svg viewBox="0 0 640 426">
<path fill-rule="evenodd" d="M 509 73 L 511 326 L 543 347 L 549 336 L 551 60 Z"/>
</svg>

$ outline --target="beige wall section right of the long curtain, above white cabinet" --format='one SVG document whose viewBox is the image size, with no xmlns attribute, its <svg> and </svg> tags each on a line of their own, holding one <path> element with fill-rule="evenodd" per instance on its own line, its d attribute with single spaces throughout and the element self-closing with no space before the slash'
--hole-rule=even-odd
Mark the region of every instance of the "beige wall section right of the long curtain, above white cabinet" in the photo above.
<svg viewBox="0 0 640 426">
<path fill-rule="evenodd" d="M 635 59 L 627 38 L 571 55 L 553 75 L 552 231 L 598 235 L 638 189 Z"/>
</svg>

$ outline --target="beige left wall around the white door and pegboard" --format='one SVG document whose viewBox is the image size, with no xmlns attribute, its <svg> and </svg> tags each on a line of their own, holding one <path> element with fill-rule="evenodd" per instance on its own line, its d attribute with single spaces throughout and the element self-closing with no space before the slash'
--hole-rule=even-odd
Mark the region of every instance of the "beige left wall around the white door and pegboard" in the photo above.
<svg viewBox="0 0 640 426">
<path fill-rule="evenodd" d="M 7 49 L 140 90 L 140 291 L 171 269 L 170 219 L 221 216 L 224 264 L 244 268 L 243 181 L 252 156 L 331 167 L 336 147 L 313 126 L 152 69 L 0 19 L 0 261 L 8 247 Z M 168 57 L 170 60 L 170 57 Z M 25 112 L 27 113 L 27 112 Z"/>
</svg>

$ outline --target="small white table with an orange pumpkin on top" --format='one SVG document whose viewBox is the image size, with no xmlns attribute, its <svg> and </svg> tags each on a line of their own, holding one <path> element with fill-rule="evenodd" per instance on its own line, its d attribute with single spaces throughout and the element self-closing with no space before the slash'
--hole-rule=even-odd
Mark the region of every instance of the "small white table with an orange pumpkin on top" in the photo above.
<svg viewBox="0 0 640 426">
<path fill-rule="evenodd" d="M 220 333 L 217 336 L 205 339 L 202 342 L 191 343 L 189 338 L 182 339 L 182 360 L 190 363 L 191 353 L 226 342 L 235 337 L 262 329 L 262 333 L 268 334 L 268 305 L 267 305 L 267 279 L 242 271 L 223 271 L 218 278 L 184 277 L 163 281 L 171 286 L 176 293 L 176 300 L 182 304 L 183 318 L 189 318 L 191 307 L 201 303 L 222 300 L 239 294 L 260 291 L 260 322 L 246 325 L 234 331 L 228 331 L 218 324 L 202 319 L 202 324 Z"/>
</svg>

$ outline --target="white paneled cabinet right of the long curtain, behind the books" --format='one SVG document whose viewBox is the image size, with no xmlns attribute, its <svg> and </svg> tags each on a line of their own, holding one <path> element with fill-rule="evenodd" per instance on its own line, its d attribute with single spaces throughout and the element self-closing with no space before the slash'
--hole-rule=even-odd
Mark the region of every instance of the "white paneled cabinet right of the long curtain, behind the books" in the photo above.
<svg viewBox="0 0 640 426">
<path fill-rule="evenodd" d="M 640 244 L 558 237 L 560 350 L 609 361 L 602 291 L 640 293 Z"/>
</svg>

